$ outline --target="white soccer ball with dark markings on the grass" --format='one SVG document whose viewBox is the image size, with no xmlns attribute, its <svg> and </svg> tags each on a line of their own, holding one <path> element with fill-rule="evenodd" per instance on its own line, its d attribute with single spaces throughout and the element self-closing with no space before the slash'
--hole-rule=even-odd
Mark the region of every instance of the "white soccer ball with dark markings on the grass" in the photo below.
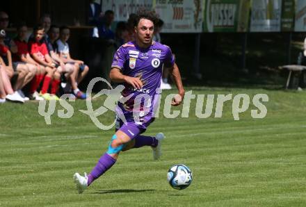
<svg viewBox="0 0 306 207">
<path fill-rule="evenodd" d="M 183 190 L 193 181 L 193 174 L 186 165 L 177 164 L 170 167 L 167 179 L 172 188 Z"/>
</svg>

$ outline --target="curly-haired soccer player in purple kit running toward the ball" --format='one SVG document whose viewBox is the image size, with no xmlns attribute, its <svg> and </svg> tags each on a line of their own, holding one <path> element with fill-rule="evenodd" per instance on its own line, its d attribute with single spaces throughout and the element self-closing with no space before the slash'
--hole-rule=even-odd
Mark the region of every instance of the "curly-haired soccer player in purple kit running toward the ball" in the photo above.
<svg viewBox="0 0 306 207">
<path fill-rule="evenodd" d="M 150 146 L 154 160 L 161 156 L 161 141 L 165 138 L 163 133 L 158 133 L 155 137 L 140 134 L 154 121 L 154 106 L 157 104 L 155 94 L 159 92 L 161 85 L 163 65 L 170 68 L 178 89 L 177 96 L 172 99 L 172 106 L 181 104 L 185 92 L 170 48 L 152 40 L 157 20 L 154 12 L 140 10 L 135 22 L 136 40 L 123 44 L 114 55 L 110 72 L 111 81 L 123 83 L 125 88 L 122 96 L 130 98 L 123 104 L 118 101 L 116 132 L 108 151 L 99 158 L 88 176 L 74 174 L 74 182 L 79 193 L 86 190 L 92 181 L 115 164 L 120 151 Z M 120 119 L 122 115 L 126 122 Z"/>
</svg>

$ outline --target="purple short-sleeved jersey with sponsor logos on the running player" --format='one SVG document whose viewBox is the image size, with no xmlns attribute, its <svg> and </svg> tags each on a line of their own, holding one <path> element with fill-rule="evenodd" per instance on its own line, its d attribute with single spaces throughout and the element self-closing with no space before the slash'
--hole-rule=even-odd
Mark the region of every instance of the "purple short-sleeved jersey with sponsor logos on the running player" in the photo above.
<svg viewBox="0 0 306 207">
<path fill-rule="evenodd" d="M 129 115 L 138 109 L 152 113 L 156 102 L 154 101 L 156 89 L 161 85 L 162 67 L 163 65 L 172 67 L 174 63 L 175 58 L 170 48 L 159 42 L 153 42 L 146 49 L 138 47 L 135 42 L 127 42 L 116 51 L 111 67 L 117 67 L 122 74 L 138 77 L 143 82 L 143 88 L 139 90 L 124 83 L 122 96 L 131 95 L 131 98 L 124 104 L 118 103 L 124 115 Z"/>
</svg>

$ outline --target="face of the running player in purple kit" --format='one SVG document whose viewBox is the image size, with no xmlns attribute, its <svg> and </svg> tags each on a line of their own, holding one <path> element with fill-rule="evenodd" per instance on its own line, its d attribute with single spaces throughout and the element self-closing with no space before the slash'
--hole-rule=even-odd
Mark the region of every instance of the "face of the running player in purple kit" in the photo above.
<svg viewBox="0 0 306 207">
<path fill-rule="evenodd" d="M 154 24 L 151 20 L 140 19 L 135 31 L 136 39 L 139 40 L 140 44 L 144 44 L 144 46 L 152 44 Z"/>
</svg>

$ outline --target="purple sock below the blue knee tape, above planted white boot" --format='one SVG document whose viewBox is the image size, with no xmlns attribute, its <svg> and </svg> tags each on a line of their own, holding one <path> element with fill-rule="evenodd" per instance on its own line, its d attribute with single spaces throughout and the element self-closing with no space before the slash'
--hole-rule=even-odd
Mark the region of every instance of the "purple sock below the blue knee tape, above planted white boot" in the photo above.
<svg viewBox="0 0 306 207">
<path fill-rule="evenodd" d="M 116 160 L 109 156 L 107 153 L 101 156 L 97 165 L 92 169 L 90 174 L 88 174 L 87 185 L 89 186 L 92 181 L 95 181 L 95 179 L 99 178 L 99 176 L 102 176 L 102 174 L 111 168 L 115 162 Z"/>
</svg>

